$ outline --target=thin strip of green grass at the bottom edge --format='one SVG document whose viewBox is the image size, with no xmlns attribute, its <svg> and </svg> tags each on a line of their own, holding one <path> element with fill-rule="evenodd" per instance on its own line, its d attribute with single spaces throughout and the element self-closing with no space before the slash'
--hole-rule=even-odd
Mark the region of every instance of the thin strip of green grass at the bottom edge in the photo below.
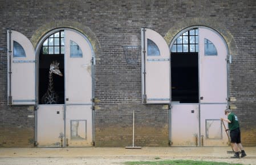
<svg viewBox="0 0 256 165">
<path fill-rule="evenodd" d="M 170 164 L 170 165 L 229 165 L 230 163 L 225 162 L 205 162 L 205 161 L 196 161 L 196 160 L 162 160 L 162 161 L 140 161 L 140 162 L 125 162 L 124 164 Z M 235 164 L 242 165 L 242 164 Z"/>
</svg>

